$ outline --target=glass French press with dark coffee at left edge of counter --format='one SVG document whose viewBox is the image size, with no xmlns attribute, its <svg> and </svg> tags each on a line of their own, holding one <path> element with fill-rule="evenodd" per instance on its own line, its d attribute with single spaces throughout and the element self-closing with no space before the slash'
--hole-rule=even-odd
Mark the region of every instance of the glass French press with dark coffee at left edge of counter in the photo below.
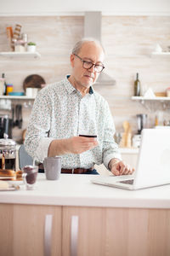
<svg viewBox="0 0 170 256">
<path fill-rule="evenodd" d="M 8 135 L 4 135 L 0 139 L 0 169 L 14 170 L 16 163 L 16 143 L 12 139 L 8 139 Z"/>
</svg>

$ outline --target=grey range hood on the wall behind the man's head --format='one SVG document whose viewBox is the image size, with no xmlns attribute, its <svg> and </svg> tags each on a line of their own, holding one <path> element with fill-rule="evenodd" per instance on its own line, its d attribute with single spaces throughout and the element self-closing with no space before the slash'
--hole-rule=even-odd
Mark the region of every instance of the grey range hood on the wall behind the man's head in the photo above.
<svg viewBox="0 0 170 256">
<path fill-rule="evenodd" d="M 95 38 L 101 42 L 101 12 L 85 12 L 84 38 Z M 116 80 L 105 73 L 104 69 L 95 84 L 115 85 Z"/>
</svg>

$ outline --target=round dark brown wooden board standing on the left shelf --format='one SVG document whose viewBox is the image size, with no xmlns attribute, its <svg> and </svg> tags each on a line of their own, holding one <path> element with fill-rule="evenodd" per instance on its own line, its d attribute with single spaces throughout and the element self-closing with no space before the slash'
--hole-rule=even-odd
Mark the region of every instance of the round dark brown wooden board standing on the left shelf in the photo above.
<svg viewBox="0 0 170 256">
<path fill-rule="evenodd" d="M 31 74 L 23 82 L 23 88 L 26 92 L 27 87 L 42 88 L 41 84 L 46 84 L 45 80 L 38 74 Z"/>
</svg>

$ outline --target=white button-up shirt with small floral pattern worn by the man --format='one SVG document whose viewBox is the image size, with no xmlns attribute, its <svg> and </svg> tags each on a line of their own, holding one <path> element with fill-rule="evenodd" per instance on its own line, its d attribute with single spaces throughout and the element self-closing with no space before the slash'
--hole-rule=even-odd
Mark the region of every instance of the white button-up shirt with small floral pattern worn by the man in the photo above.
<svg viewBox="0 0 170 256">
<path fill-rule="evenodd" d="M 48 84 L 39 91 L 26 131 L 25 147 L 32 158 L 43 162 L 54 139 L 97 135 L 99 145 L 82 154 L 62 155 L 62 168 L 90 168 L 121 160 L 114 141 L 115 125 L 108 103 L 90 87 L 86 96 L 76 90 L 67 78 Z"/>
</svg>

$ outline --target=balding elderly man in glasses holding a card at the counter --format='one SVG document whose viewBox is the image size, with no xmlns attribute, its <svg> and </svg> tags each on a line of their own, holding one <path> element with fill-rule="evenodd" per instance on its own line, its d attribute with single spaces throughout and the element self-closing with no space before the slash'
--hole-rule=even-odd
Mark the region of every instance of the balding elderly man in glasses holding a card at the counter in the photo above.
<svg viewBox="0 0 170 256">
<path fill-rule="evenodd" d="M 98 174 L 94 164 L 102 163 L 115 175 L 133 173 L 114 142 L 108 103 L 92 87 L 105 68 L 104 57 L 98 41 L 82 39 L 71 53 L 71 75 L 40 90 L 25 140 L 34 159 L 61 155 L 63 173 Z"/>
</svg>

